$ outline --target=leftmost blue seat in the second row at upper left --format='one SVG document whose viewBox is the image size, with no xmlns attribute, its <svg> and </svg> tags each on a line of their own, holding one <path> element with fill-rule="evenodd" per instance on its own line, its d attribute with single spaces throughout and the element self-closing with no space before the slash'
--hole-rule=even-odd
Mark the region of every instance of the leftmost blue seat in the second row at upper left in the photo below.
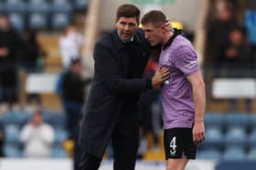
<svg viewBox="0 0 256 170">
<path fill-rule="evenodd" d="M 25 27 L 25 17 L 19 13 L 12 13 L 9 14 L 9 20 L 11 25 L 18 31 L 22 32 Z"/>
</svg>

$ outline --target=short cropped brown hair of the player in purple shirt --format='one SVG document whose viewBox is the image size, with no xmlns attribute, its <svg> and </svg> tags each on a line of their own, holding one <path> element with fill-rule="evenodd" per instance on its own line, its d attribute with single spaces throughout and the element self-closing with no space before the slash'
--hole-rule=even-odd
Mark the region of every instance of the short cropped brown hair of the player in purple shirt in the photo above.
<svg viewBox="0 0 256 170">
<path fill-rule="evenodd" d="M 152 23 L 159 27 L 166 22 L 166 16 L 162 11 L 152 10 L 146 13 L 142 19 L 142 25 Z"/>
</svg>

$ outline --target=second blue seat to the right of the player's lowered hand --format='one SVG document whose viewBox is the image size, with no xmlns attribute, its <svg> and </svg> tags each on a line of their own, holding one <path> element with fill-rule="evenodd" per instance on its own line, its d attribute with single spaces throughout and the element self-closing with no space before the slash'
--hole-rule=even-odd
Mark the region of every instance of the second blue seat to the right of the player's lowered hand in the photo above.
<svg viewBox="0 0 256 170">
<path fill-rule="evenodd" d="M 248 135 L 245 130 L 239 127 L 230 128 L 225 136 L 226 145 L 242 145 L 248 144 Z"/>
</svg>

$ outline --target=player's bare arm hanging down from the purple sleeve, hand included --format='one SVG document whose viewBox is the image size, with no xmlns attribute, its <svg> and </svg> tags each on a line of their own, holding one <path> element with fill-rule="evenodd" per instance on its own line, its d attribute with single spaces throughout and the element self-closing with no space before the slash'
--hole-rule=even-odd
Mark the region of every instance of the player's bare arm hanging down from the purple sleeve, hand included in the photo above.
<svg viewBox="0 0 256 170">
<path fill-rule="evenodd" d="M 206 109 L 205 83 L 199 71 L 187 76 L 192 85 L 193 100 L 195 102 L 195 120 L 193 127 L 193 140 L 196 144 L 201 143 L 205 138 L 204 116 Z"/>
</svg>

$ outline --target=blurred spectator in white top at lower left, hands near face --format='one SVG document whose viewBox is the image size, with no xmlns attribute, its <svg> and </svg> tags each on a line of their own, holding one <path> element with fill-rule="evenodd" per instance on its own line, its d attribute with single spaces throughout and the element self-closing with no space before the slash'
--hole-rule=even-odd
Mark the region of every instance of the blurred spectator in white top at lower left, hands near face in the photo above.
<svg viewBox="0 0 256 170">
<path fill-rule="evenodd" d="M 27 157 L 49 157 L 54 142 L 54 130 L 44 123 L 41 113 L 37 111 L 23 127 L 20 140 L 25 146 Z"/>
</svg>

